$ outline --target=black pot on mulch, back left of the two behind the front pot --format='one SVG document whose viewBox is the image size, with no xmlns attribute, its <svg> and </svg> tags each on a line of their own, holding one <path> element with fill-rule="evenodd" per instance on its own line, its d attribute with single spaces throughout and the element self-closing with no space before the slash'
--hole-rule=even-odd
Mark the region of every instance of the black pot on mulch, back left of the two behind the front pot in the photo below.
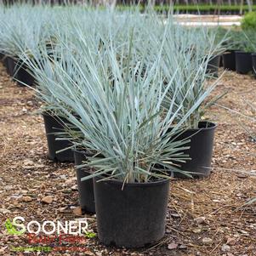
<svg viewBox="0 0 256 256">
<path fill-rule="evenodd" d="M 43 113 L 44 127 L 48 142 L 48 158 L 59 162 L 74 162 L 74 153 L 71 149 L 56 153 L 56 151 L 71 147 L 72 143 L 69 140 L 56 140 L 58 133 L 64 129 L 64 123 L 70 123 L 63 117 L 51 116 L 48 113 Z"/>
</svg>

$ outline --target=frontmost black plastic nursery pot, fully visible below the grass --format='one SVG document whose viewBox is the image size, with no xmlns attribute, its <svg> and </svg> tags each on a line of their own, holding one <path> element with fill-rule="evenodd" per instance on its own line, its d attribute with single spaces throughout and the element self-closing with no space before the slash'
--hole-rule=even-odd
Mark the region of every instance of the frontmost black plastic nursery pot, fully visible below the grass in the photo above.
<svg viewBox="0 0 256 256">
<path fill-rule="evenodd" d="M 100 242 L 116 247 L 145 247 L 162 238 L 169 180 L 128 183 L 94 178 Z"/>
</svg>

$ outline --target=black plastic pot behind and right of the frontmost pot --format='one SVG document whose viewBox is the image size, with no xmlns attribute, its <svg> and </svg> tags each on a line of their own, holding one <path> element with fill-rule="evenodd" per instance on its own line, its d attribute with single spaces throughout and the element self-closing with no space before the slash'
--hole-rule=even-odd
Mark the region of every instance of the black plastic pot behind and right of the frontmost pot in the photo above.
<svg viewBox="0 0 256 256">
<path fill-rule="evenodd" d="M 198 127 L 197 129 L 188 129 L 175 138 L 177 141 L 191 139 L 185 145 L 190 146 L 190 149 L 184 151 L 185 154 L 190 156 L 191 160 L 184 163 L 177 162 L 177 164 L 180 165 L 180 170 L 195 173 L 191 174 L 193 178 L 207 178 L 211 174 L 213 139 L 217 125 L 213 122 L 199 122 Z M 174 177 L 188 178 L 185 174 L 178 172 L 174 172 Z"/>
</svg>

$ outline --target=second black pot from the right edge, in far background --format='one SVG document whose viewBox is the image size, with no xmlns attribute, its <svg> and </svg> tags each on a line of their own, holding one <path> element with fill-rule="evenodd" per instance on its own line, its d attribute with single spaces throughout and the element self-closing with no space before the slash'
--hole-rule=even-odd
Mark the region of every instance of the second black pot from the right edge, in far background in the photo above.
<svg viewBox="0 0 256 256">
<path fill-rule="evenodd" d="M 238 74 L 247 74 L 252 70 L 252 54 L 236 51 L 236 72 Z"/>
</svg>

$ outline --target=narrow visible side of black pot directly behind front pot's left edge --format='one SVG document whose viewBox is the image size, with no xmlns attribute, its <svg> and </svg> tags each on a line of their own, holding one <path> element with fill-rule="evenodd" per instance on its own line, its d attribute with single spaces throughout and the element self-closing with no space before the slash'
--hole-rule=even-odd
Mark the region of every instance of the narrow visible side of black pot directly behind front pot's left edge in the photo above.
<svg viewBox="0 0 256 256">
<path fill-rule="evenodd" d="M 74 150 L 75 165 L 81 165 L 87 160 L 88 152 Z M 94 201 L 94 182 L 93 179 L 81 181 L 83 177 L 88 176 L 88 168 L 76 168 L 77 187 L 79 194 L 79 203 L 82 212 L 95 213 Z"/>
</svg>

